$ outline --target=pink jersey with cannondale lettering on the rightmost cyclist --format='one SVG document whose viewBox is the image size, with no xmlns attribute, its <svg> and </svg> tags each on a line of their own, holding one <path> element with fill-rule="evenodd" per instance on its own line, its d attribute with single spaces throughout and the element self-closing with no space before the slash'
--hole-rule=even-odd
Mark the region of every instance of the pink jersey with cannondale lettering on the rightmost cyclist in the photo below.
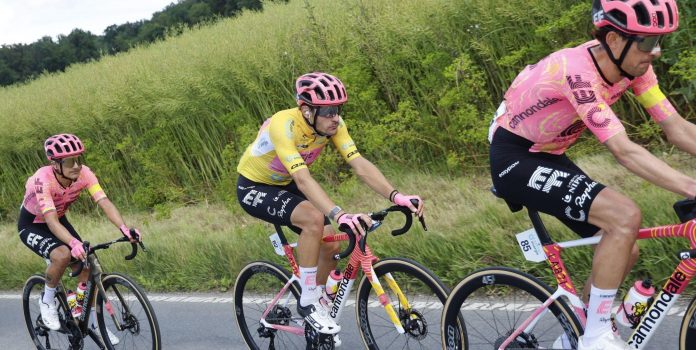
<svg viewBox="0 0 696 350">
<path fill-rule="evenodd" d="M 610 106 L 629 88 L 656 122 L 676 113 L 652 66 L 633 80 L 606 81 L 590 54 L 598 45 L 589 41 L 527 66 L 505 93 L 489 138 L 503 127 L 534 142 L 530 152 L 562 154 L 589 128 L 604 143 L 624 130 Z"/>
</svg>

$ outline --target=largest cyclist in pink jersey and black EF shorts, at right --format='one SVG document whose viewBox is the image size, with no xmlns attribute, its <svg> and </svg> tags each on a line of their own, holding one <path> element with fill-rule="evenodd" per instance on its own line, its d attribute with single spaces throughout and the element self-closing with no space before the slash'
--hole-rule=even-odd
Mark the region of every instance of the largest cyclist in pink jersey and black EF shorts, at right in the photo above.
<svg viewBox="0 0 696 350">
<path fill-rule="evenodd" d="M 676 1 L 594 0 L 592 19 L 596 40 L 527 66 L 508 89 L 489 132 L 491 175 L 508 201 L 554 215 L 583 237 L 602 235 L 585 288 L 588 319 L 578 349 L 628 349 L 612 332 L 610 312 L 638 258 L 640 209 L 564 152 L 590 129 L 633 173 L 694 198 L 696 180 L 631 142 L 611 105 L 632 90 L 667 139 L 694 155 L 696 126 L 660 91 L 652 69 L 662 37 L 678 27 Z"/>
</svg>

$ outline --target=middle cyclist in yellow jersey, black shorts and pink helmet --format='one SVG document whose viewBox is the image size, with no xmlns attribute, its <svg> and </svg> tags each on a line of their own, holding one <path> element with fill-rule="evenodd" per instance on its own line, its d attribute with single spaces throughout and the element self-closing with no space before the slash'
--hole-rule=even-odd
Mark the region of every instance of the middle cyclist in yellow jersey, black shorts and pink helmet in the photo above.
<svg viewBox="0 0 696 350">
<path fill-rule="evenodd" d="M 340 327 L 321 303 L 322 287 L 336 267 L 338 243 L 323 243 L 334 234 L 329 219 L 364 233 L 365 214 L 349 214 L 336 205 L 314 180 L 308 166 L 331 141 L 358 177 L 376 193 L 423 215 L 423 201 L 399 193 L 370 161 L 358 152 L 341 118 L 348 101 L 345 86 L 321 73 L 300 76 L 295 83 L 297 108 L 280 111 L 261 126 L 244 152 L 237 171 L 237 199 L 246 212 L 264 221 L 289 226 L 300 234 L 297 251 L 302 295 L 298 312 L 317 331 L 335 334 Z M 418 200 L 418 207 L 411 204 Z"/>
</svg>

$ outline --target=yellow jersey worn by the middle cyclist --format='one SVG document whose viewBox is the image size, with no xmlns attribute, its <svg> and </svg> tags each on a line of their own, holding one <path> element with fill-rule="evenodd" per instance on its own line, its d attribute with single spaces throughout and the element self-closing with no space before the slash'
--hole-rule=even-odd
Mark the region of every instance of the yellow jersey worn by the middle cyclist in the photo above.
<svg viewBox="0 0 696 350">
<path fill-rule="evenodd" d="M 263 123 L 237 171 L 254 182 L 287 185 L 293 173 L 317 159 L 329 139 L 346 162 L 360 157 L 342 118 L 336 134 L 328 138 L 314 132 L 299 108 L 280 111 Z"/>
</svg>

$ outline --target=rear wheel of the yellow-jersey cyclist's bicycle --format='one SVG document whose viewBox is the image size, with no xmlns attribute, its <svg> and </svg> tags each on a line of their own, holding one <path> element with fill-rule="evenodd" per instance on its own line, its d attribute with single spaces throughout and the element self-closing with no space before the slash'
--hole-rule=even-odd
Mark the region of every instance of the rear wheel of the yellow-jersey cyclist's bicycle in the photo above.
<svg viewBox="0 0 696 350">
<path fill-rule="evenodd" d="M 290 280 L 291 276 L 290 272 L 280 265 L 267 261 L 251 262 L 244 266 L 237 275 L 237 280 L 234 283 L 235 319 L 244 342 L 250 349 L 269 349 L 271 341 L 277 349 L 304 349 L 306 347 L 304 336 L 272 330 L 260 324 L 261 315 L 267 305 Z M 288 304 L 280 305 L 288 296 L 287 293 L 291 293 Z M 279 299 L 276 307 L 266 316 L 266 321 L 284 325 L 298 325 L 302 322 L 302 317 L 297 314 L 299 300 L 300 285 L 295 282 L 289 286 L 286 294 Z"/>
</svg>

